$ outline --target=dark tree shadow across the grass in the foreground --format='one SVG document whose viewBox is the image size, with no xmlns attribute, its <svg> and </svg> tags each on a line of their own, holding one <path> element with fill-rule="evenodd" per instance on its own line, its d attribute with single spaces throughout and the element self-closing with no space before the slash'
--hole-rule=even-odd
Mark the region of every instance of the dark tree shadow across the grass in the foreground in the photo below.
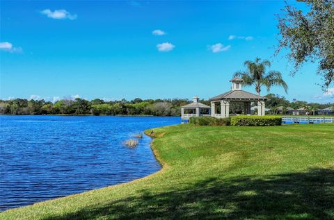
<svg viewBox="0 0 334 220">
<path fill-rule="evenodd" d="M 113 201 L 52 219 L 334 219 L 334 171 L 218 180 Z"/>
</svg>

